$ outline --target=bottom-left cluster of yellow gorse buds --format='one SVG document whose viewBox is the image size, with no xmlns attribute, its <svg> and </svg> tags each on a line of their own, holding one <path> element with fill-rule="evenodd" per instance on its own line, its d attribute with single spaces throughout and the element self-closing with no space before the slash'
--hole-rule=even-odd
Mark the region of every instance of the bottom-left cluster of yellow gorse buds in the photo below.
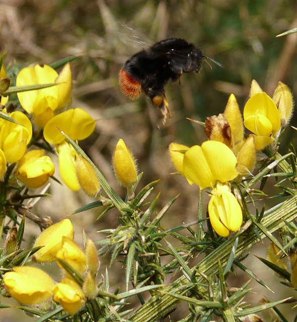
<svg viewBox="0 0 297 322">
<path fill-rule="evenodd" d="M 14 267 L 4 275 L 4 284 L 11 296 L 21 303 L 32 305 L 45 301 L 58 302 L 69 314 L 75 314 L 84 307 L 87 299 L 97 295 L 96 274 L 99 259 L 96 247 L 87 238 L 85 252 L 73 241 L 73 228 L 69 219 L 64 219 L 44 230 L 35 241 L 35 247 L 43 246 L 33 255 L 39 263 L 58 261 L 65 276 L 55 283 L 52 278 L 36 267 Z M 69 265 L 75 275 L 82 276 L 82 283 L 64 269 L 62 263 Z"/>
</svg>

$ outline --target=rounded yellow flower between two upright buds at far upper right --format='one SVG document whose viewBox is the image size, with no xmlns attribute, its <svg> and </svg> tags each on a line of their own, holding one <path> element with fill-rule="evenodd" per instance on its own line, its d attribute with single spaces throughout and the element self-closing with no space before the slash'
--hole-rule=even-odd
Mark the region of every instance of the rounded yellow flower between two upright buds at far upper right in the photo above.
<svg viewBox="0 0 297 322">
<path fill-rule="evenodd" d="M 278 109 L 266 93 L 252 96 L 244 108 L 244 125 L 259 136 L 274 137 L 280 129 Z"/>
</svg>

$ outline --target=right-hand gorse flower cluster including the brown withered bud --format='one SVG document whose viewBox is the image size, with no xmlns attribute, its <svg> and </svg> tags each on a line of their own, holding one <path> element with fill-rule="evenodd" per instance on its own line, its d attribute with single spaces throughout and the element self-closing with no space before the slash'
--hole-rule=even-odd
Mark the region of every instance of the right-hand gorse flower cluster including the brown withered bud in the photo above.
<svg viewBox="0 0 297 322">
<path fill-rule="evenodd" d="M 292 109 L 293 99 L 287 86 L 279 83 L 271 99 L 253 81 L 244 119 L 232 94 L 224 114 L 206 119 L 205 133 L 209 140 L 201 147 L 171 143 L 171 159 L 179 173 L 200 189 L 211 188 L 209 219 L 219 235 L 228 236 L 229 230 L 238 230 L 243 221 L 241 206 L 230 182 L 240 182 L 251 175 L 256 151 L 275 142 L 281 126 L 288 123 Z M 253 134 L 245 136 L 244 125 Z"/>
</svg>

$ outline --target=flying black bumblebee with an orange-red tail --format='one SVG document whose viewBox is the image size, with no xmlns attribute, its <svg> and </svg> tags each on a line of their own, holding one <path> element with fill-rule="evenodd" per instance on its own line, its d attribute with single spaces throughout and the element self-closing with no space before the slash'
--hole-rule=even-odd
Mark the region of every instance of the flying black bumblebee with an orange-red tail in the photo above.
<svg viewBox="0 0 297 322">
<path fill-rule="evenodd" d="M 203 56 L 197 46 L 184 39 L 159 41 L 150 48 L 137 52 L 125 62 L 119 73 L 121 90 L 131 100 L 137 99 L 141 92 L 147 95 L 152 103 L 160 108 L 163 126 L 167 117 L 170 117 L 165 85 L 169 79 L 180 80 L 183 72 L 198 73 L 204 58 L 208 57 Z"/>
</svg>

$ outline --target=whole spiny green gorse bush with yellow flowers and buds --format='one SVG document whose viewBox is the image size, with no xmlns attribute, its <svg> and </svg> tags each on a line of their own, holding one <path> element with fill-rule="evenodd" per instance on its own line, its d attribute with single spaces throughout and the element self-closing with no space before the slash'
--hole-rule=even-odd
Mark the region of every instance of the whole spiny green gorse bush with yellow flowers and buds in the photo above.
<svg viewBox="0 0 297 322">
<path fill-rule="evenodd" d="M 276 305 L 289 301 L 293 307 L 295 299 L 280 298 L 251 307 L 244 301 L 251 292 L 249 283 L 230 288 L 228 277 L 237 267 L 268 288 L 244 265 L 247 251 L 267 237 L 271 240 L 267 259 L 260 260 L 286 287 L 297 287 L 296 154 L 293 146 L 285 155 L 278 153 L 293 113 L 293 97 L 286 85 L 279 83 L 270 98 L 253 81 L 243 115 L 231 95 L 226 108 L 222 106 L 224 113 L 205 123 L 195 121 L 196 126 L 204 126 L 208 137 L 201 146 L 169 145 L 168 169 L 173 163 L 179 180 L 198 185 L 200 194 L 197 220 L 167 228 L 161 220 L 170 216 L 176 198 L 161 200 L 163 208 L 156 210 L 160 194 L 151 201 L 148 197 L 158 180 L 141 184 L 141 169 L 121 138 L 110 164 L 118 183 L 127 189 L 124 200 L 78 145 L 92 134 L 95 121 L 83 109 L 71 108 L 70 61 L 75 57 L 54 64 L 62 67 L 59 74 L 43 64 L 21 70 L 12 66 L 6 71 L 4 58 L 3 53 L 0 232 L 6 240 L 0 253 L 0 307 L 12 307 L 5 302 L 5 297 L 12 296 L 19 302 L 14 307 L 39 322 L 135 322 L 163 320 L 178 303 L 185 302 L 188 312 L 181 321 L 206 322 L 216 317 L 261 321 L 267 309 L 273 310 L 274 320 L 285 320 Z M 103 206 L 97 220 L 111 209 L 118 214 L 118 226 L 101 231 L 105 239 L 91 240 L 83 234 L 84 250 L 73 241 L 69 219 L 52 224 L 50 219 L 32 218 L 25 204 L 27 199 L 47 198 L 50 181 L 57 180 L 51 160 L 54 154 L 64 184 L 96 198 L 76 213 Z M 258 209 L 257 198 L 264 195 L 268 178 L 275 180 L 280 191 L 273 197 L 281 196 L 284 201 L 268 210 Z M 28 193 L 28 188 L 44 185 L 41 193 Z M 206 211 L 202 205 L 205 192 L 209 195 Z M 22 241 L 30 218 L 43 231 L 32 248 L 25 250 Z M 281 241 L 273 235 L 276 231 L 281 232 Z M 169 243 L 169 236 L 174 243 Z M 106 254 L 111 254 L 110 267 L 103 270 L 100 258 Z M 201 254 L 203 259 L 190 266 L 190 260 Z M 124 291 L 109 287 L 109 270 L 115 261 L 123 265 Z M 44 272 L 42 264 L 51 262 L 61 269 L 59 281 Z M 180 277 L 170 279 L 178 272 Z M 150 297 L 144 299 L 147 294 Z M 128 306 L 132 298 L 139 301 L 133 308 Z"/>
</svg>

